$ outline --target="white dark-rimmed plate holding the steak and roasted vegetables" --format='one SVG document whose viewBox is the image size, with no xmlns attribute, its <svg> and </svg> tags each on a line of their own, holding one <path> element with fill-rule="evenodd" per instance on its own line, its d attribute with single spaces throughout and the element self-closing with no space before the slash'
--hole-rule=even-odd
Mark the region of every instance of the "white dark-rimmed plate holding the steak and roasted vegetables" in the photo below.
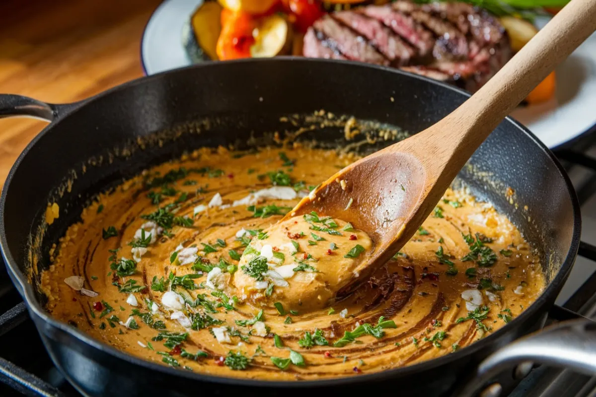
<svg viewBox="0 0 596 397">
<path fill-rule="evenodd" d="M 151 15 L 141 42 L 145 74 L 191 65 L 182 26 L 203 0 L 165 0 Z M 546 21 L 538 21 L 544 25 Z M 596 125 L 596 34 L 557 68 L 557 93 L 544 104 L 511 114 L 549 148 L 557 148 Z"/>
</svg>

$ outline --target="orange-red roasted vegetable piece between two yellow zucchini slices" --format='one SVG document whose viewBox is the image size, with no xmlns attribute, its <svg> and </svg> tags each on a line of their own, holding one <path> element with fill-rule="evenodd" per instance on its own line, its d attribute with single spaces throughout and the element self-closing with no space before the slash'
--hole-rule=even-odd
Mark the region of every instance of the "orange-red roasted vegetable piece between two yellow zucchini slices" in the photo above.
<svg viewBox="0 0 596 397">
<path fill-rule="evenodd" d="M 222 32 L 216 51 L 219 60 L 250 58 L 250 46 L 254 44 L 253 30 L 256 20 L 247 12 L 223 10 Z"/>
</svg>

